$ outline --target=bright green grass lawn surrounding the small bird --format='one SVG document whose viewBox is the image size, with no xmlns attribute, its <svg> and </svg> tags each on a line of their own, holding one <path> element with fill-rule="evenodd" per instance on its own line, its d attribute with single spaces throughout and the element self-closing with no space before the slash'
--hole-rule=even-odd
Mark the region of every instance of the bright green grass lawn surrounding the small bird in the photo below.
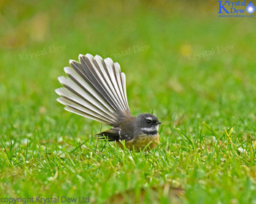
<svg viewBox="0 0 256 204">
<path fill-rule="evenodd" d="M 0 8 L 0 198 L 256 203 L 255 17 L 219 18 L 215 1 Z M 163 123 L 151 154 L 97 145 L 108 127 L 56 102 L 63 67 L 87 52 L 118 61 L 132 114 Z"/>
</svg>

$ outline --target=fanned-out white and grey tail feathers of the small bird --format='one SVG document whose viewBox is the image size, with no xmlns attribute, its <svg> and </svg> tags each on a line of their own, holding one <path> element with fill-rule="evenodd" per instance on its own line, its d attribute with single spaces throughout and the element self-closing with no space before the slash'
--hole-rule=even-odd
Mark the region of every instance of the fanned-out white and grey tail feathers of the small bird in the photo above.
<svg viewBox="0 0 256 204">
<path fill-rule="evenodd" d="M 70 67 L 65 67 L 67 76 L 60 76 L 59 82 L 64 87 L 56 89 L 67 111 L 79 114 L 113 127 L 122 119 L 131 117 L 127 102 L 125 74 L 120 65 L 113 60 L 103 60 L 86 54 L 79 55 L 79 62 L 69 60 Z"/>
</svg>

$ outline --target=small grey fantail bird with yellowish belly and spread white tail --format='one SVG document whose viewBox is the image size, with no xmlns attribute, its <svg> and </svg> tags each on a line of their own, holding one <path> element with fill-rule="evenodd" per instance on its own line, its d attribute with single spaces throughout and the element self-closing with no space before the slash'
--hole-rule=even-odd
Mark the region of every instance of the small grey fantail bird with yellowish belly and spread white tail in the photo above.
<svg viewBox="0 0 256 204">
<path fill-rule="evenodd" d="M 97 134 L 100 139 L 125 141 L 128 149 L 136 152 L 147 146 L 152 149 L 159 144 L 158 127 L 161 122 L 153 114 L 139 114 L 132 117 L 127 102 L 125 74 L 120 65 L 113 60 L 103 60 L 86 54 L 79 55 L 79 62 L 69 60 L 70 67 L 64 67 L 67 76 L 60 76 L 59 82 L 64 87 L 56 89 L 67 111 L 112 126 Z"/>
</svg>

